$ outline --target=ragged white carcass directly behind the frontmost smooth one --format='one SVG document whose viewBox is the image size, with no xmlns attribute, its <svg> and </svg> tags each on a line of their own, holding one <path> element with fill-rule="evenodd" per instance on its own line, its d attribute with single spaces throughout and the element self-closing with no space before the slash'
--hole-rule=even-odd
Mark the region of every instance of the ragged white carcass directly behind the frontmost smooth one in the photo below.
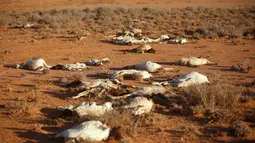
<svg viewBox="0 0 255 143">
<path fill-rule="evenodd" d="M 79 105 L 69 105 L 64 108 L 60 108 L 62 111 L 71 111 L 78 115 L 79 117 L 83 116 L 92 116 L 92 117 L 100 117 L 105 113 L 112 111 L 112 103 L 106 102 L 104 104 L 96 104 L 96 102 L 82 102 Z"/>
</svg>

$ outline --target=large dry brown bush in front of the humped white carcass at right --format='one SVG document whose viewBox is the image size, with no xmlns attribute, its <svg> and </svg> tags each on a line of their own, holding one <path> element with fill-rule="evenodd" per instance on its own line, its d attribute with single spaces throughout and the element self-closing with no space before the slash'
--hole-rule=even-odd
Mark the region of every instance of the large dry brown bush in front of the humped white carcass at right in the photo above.
<svg viewBox="0 0 255 143">
<path fill-rule="evenodd" d="M 201 112 L 209 121 L 233 121 L 238 119 L 236 110 L 241 90 L 233 85 L 214 83 L 194 85 L 183 89 L 186 107 Z"/>
</svg>

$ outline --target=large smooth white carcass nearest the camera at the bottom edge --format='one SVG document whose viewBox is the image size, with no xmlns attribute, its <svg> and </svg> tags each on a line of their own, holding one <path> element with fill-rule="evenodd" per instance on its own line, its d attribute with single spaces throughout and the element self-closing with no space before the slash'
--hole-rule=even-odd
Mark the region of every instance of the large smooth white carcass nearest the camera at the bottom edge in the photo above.
<svg viewBox="0 0 255 143">
<path fill-rule="evenodd" d="M 64 138 L 83 141 L 102 141 L 109 137 L 110 128 L 100 121 L 87 121 L 55 135 L 55 138 Z"/>
</svg>

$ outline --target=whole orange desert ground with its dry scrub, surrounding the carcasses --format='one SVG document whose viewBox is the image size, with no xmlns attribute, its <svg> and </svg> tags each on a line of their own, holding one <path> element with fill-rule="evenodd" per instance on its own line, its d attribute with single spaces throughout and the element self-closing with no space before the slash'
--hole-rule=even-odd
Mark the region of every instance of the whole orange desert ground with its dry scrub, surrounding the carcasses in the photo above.
<svg viewBox="0 0 255 143">
<path fill-rule="evenodd" d="M 153 73 L 154 81 L 174 79 L 192 71 L 206 75 L 212 85 L 202 86 L 208 88 L 202 95 L 227 95 L 222 99 L 226 106 L 200 106 L 189 99 L 196 89 L 169 87 L 176 95 L 164 104 L 156 103 L 144 116 L 120 114 L 99 119 L 112 128 L 120 127 L 118 133 L 102 142 L 255 142 L 254 0 L 2 0 L 0 6 L 1 143 L 63 142 L 52 136 L 88 119 L 63 117 L 58 107 L 110 101 L 96 97 L 71 99 L 77 91 L 63 84 L 75 78 L 100 78 L 97 73 L 143 61 L 173 68 Z M 24 28 L 27 23 L 36 26 Z M 124 52 L 139 45 L 109 42 L 109 36 L 117 31 L 132 28 L 140 28 L 144 35 L 153 38 L 167 34 L 170 38 L 188 38 L 189 42 L 150 44 L 157 53 L 144 54 Z M 174 64 L 191 56 L 207 58 L 217 65 Z M 4 67 L 39 57 L 49 65 L 105 57 L 111 62 L 81 72 L 43 73 Z M 240 63 L 253 69 L 231 70 L 232 65 Z M 151 86 L 149 81 L 123 82 Z M 235 98 L 232 95 L 238 95 L 235 103 L 231 103 Z M 217 113 L 221 108 L 226 110 Z M 215 115 L 207 116 L 207 109 L 215 109 Z M 235 123 L 241 124 L 241 129 L 235 129 Z"/>
</svg>

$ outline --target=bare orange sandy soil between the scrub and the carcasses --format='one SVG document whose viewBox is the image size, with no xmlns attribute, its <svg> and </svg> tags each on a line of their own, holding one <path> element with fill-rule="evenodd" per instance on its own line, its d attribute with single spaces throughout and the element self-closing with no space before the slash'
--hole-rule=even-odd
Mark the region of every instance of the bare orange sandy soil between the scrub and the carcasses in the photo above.
<svg viewBox="0 0 255 143">
<path fill-rule="evenodd" d="M 1 10 L 5 11 L 31 11 L 35 9 L 52 9 L 67 7 L 97 7 L 102 5 L 110 6 L 136 6 L 136 7 L 186 7 L 206 5 L 208 7 L 237 7 L 243 5 L 254 5 L 254 0 L 181 0 L 181 1 L 121 1 L 121 0 L 62 0 L 62 1 L 31 1 L 29 0 L 2 0 Z M 68 41 L 65 38 L 52 38 L 35 40 L 31 42 L 33 32 L 20 29 L 1 28 L 0 31 L 0 63 L 22 63 L 33 57 L 42 57 L 49 65 L 58 63 L 73 63 L 87 61 L 92 58 L 108 57 L 112 63 L 92 67 L 79 74 L 86 75 L 88 79 L 93 75 L 102 72 L 121 68 L 126 65 L 135 64 L 141 61 L 153 61 L 162 64 L 164 67 L 180 69 L 179 73 L 166 72 L 155 74 L 158 79 L 166 79 L 185 74 L 191 71 L 198 71 L 208 76 L 208 78 L 224 78 L 234 84 L 249 84 L 255 80 L 255 71 L 249 73 L 238 73 L 229 71 L 231 65 L 241 61 L 248 62 L 255 67 L 254 40 L 242 40 L 234 44 L 231 40 L 200 40 L 190 42 L 185 45 L 152 44 L 157 54 L 124 54 L 121 50 L 131 49 L 137 46 L 118 46 L 102 43 L 106 35 L 92 35 L 83 41 Z M 199 48 L 203 47 L 203 48 Z M 183 66 L 172 66 L 171 63 L 187 56 L 202 56 L 218 63 L 217 66 L 201 66 L 200 68 L 189 68 Z M 64 76 L 77 74 L 69 71 L 51 71 L 42 75 L 37 71 L 27 71 L 21 69 L 8 69 L 0 66 L 0 142 L 56 142 L 49 138 L 49 135 L 57 133 L 72 124 L 63 125 L 53 120 L 57 117 L 55 108 L 73 103 L 80 103 L 84 99 L 69 100 L 67 97 L 75 93 L 67 93 L 66 89 L 56 83 Z M 129 84 L 139 83 L 127 81 Z M 144 85 L 143 85 L 144 86 Z M 17 111 L 5 113 L 4 105 L 11 100 L 27 101 L 27 111 Z M 254 110 L 255 103 L 250 102 L 242 108 Z M 138 134 L 133 142 L 231 142 L 236 141 L 234 137 L 219 136 L 210 137 L 205 132 L 189 132 L 183 134 L 181 130 L 185 126 L 195 126 L 200 129 L 200 123 L 195 117 L 174 114 L 168 111 L 154 111 L 151 116 L 154 122 L 147 127 L 140 129 L 142 134 Z M 224 130 L 224 125 L 217 128 L 214 124 L 208 129 L 216 132 Z M 255 137 L 247 140 L 254 141 Z M 109 142 L 117 142 L 114 139 Z"/>
</svg>

